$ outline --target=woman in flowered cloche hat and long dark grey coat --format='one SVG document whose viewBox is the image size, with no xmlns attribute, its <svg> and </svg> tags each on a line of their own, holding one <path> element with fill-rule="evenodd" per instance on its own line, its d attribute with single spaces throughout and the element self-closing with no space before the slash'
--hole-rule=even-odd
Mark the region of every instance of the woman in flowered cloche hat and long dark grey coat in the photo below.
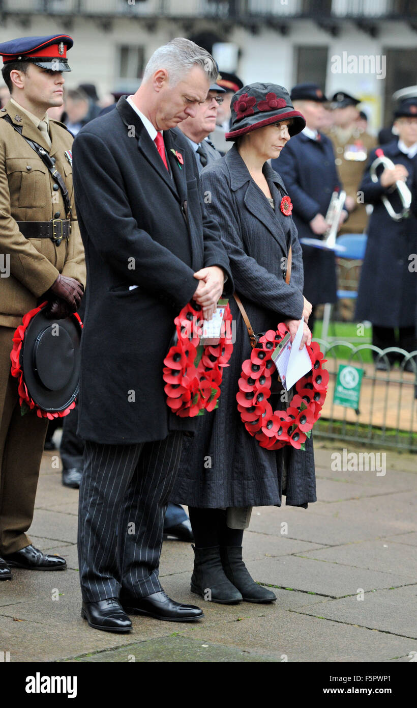
<svg viewBox="0 0 417 708">
<path fill-rule="evenodd" d="M 235 145 L 201 173 L 211 218 L 221 225 L 237 294 L 255 333 L 276 330 L 285 321 L 291 336 L 311 305 L 303 297 L 303 261 L 297 229 L 283 210 L 287 195 L 281 177 L 267 160 L 276 158 L 290 135 L 303 130 L 286 89 L 252 84 L 232 100 L 233 123 L 226 139 Z M 290 283 L 286 258 L 292 246 Z M 305 450 L 259 447 L 237 411 L 242 362 L 251 346 L 235 299 L 230 309 L 236 338 L 229 366 L 223 369 L 218 409 L 199 418 L 194 438 L 184 441 L 172 501 L 187 504 L 196 547 L 192 591 L 218 603 L 247 600 L 267 603 L 276 595 L 254 583 L 242 561 L 243 530 L 252 506 L 291 506 L 317 501 L 312 440 Z M 310 344 L 307 325 L 302 345 Z M 276 407 L 286 408 L 285 402 Z"/>
</svg>

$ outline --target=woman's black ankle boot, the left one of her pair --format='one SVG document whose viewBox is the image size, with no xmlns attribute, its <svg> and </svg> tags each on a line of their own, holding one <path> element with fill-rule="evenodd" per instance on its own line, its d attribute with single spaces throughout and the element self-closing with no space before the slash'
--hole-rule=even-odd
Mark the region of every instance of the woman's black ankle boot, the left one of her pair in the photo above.
<svg viewBox="0 0 417 708">
<path fill-rule="evenodd" d="M 232 605 L 242 600 L 239 590 L 228 581 L 223 571 L 220 547 L 196 548 L 194 550 L 194 571 L 191 578 L 191 591 L 204 600 L 211 600 L 221 605 Z"/>
</svg>

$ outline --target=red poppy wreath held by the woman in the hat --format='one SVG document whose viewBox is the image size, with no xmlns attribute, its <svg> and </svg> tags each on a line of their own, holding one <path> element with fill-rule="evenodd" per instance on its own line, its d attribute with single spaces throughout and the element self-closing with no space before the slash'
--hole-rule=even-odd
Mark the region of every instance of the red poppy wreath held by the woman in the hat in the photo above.
<svg viewBox="0 0 417 708">
<path fill-rule="evenodd" d="M 237 410 L 247 432 L 266 450 L 278 450 L 291 445 L 305 450 L 312 427 L 321 415 L 329 384 L 326 361 L 317 342 L 307 346 L 312 370 L 296 384 L 296 393 L 285 411 L 273 411 L 269 404 L 272 387 L 276 388 L 277 372 L 271 355 L 288 333 L 283 322 L 276 331 L 269 329 L 259 337 L 259 346 L 252 349 L 250 359 L 242 364 Z M 275 375 L 274 375 L 275 373 Z M 275 379 L 275 381 L 274 381 Z"/>
</svg>

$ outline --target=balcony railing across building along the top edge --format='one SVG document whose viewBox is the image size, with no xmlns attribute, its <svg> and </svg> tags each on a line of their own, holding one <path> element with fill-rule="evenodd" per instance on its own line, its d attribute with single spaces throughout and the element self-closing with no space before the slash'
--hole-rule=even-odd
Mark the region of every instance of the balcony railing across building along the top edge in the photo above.
<svg viewBox="0 0 417 708">
<path fill-rule="evenodd" d="M 0 0 L 0 14 L 91 17 L 417 20 L 417 0 Z"/>
</svg>

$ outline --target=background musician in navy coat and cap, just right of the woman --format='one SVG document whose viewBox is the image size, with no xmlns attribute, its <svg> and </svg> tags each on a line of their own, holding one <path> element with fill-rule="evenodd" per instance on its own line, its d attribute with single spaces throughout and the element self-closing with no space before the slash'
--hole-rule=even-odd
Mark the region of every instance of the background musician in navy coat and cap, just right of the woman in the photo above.
<svg viewBox="0 0 417 708">
<path fill-rule="evenodd" d="M 298 238 L 322 239 L 327 230 L 326 213 L 335 188 L 341 189 L 331 140 L 319 132 L 324 119 L 326 96 L 317 84 L 298 84 L 291 90 L 294 108 L 307 125 L 295 135 L 271 164 L 286 185 L 293 202 Z M 341 222 L 348 216 L 342 211 Z M 301 244 L 304 264 L 303 294 L 313 308 L 308 326 L 313 331 L 315 305 L 336 302 L 336 261 L 333 251 Z"/>
</svg>

